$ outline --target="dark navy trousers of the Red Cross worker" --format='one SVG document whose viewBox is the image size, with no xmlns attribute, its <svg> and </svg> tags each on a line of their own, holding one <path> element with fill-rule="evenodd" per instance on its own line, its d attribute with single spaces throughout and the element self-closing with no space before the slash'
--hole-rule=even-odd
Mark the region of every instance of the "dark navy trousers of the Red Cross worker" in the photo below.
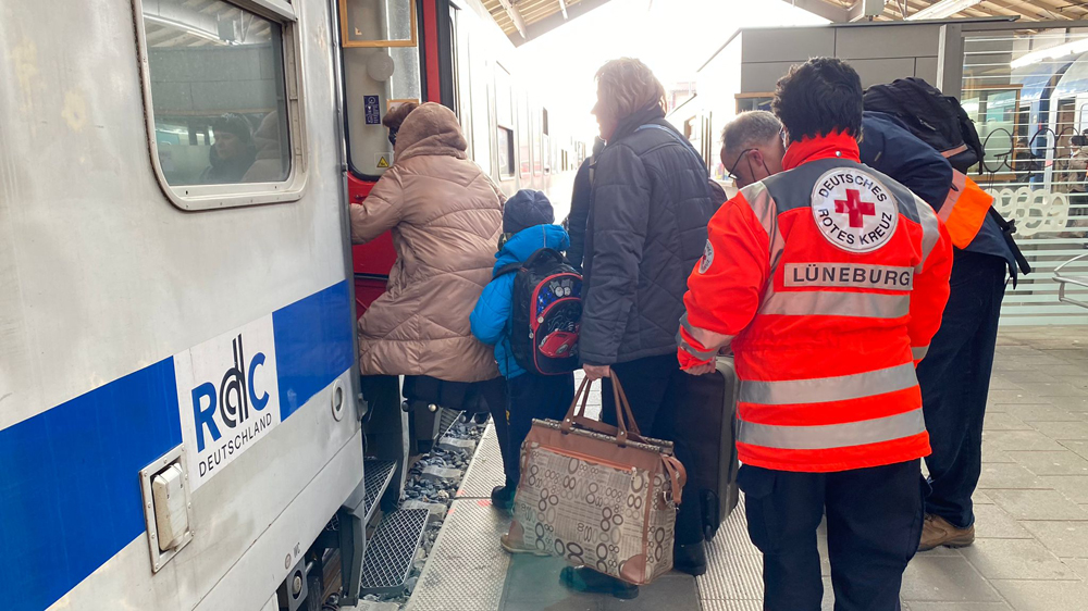
<svg viewBox="0 0 1088 611">
<path fill-rule="evenodd" d="M 741 467 L 749 535 L 764 553 L 765 611 L 818 611 L 816 528 L 827 513 L 834 611 L 898 611 L 925 516 L 922 463 L 838 473 Z"/>
</svg>

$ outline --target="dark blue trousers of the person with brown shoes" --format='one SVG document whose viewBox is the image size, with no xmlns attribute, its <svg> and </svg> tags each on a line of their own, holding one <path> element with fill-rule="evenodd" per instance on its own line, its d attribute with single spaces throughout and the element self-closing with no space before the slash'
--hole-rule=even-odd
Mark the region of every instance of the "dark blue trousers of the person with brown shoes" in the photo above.
<svg viewBox="0 0 1088 611">
<path fill-rule="evenodd" d="M 926 513 L 957 528 L 975 523 L 970 495 L 982 470 L 982 416 L 990 388 L 1005 262 L 956 250 L 941 328 L 918 365 L 922 403 L 934 453 Z"/>
</svg>

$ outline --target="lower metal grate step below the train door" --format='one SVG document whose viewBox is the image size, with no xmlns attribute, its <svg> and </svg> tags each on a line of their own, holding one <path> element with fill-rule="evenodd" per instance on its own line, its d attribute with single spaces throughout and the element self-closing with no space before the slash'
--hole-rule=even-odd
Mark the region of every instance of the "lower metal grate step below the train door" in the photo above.
<svg viewBox="0 0 1088 611">
<path fill-rule="evenodd" d="M 385 515 L 367 544 L 360 595 L 398 594 L 405 587 L 426 516 L 425 509 L 400 509 Z"/>
</svg>

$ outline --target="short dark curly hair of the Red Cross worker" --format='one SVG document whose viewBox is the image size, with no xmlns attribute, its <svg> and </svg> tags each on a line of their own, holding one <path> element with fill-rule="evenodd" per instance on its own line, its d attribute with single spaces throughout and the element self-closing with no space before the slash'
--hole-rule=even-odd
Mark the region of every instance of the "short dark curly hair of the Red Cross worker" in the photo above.
<svg viewBox="0 0 1088 611">
<path fill-rule="evenodd" d="M 834 58 L 814 58 L 790 67 L 778 80 L 771 110 L 790 139 L 838 132 L 862 134 L 862 79 L 850 64 Z"/>
</svg>

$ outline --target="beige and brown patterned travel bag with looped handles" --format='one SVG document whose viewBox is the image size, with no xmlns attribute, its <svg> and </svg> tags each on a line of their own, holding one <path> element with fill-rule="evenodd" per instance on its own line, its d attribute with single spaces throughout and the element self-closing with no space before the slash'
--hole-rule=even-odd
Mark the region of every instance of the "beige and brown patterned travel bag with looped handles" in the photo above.
<svg viewBox="0 0 1088 611">
<path fill-rule="evenodd" d="M 509 537 L 644 585 L 672 569 L 677 506 L 687 476 L 671 441 L 639 433 L 615 374 L 611 379 L 618 426 L 584 415 L 589 381 L 562 422 L 533 421 L 521 446 Z"/>
</svg>

